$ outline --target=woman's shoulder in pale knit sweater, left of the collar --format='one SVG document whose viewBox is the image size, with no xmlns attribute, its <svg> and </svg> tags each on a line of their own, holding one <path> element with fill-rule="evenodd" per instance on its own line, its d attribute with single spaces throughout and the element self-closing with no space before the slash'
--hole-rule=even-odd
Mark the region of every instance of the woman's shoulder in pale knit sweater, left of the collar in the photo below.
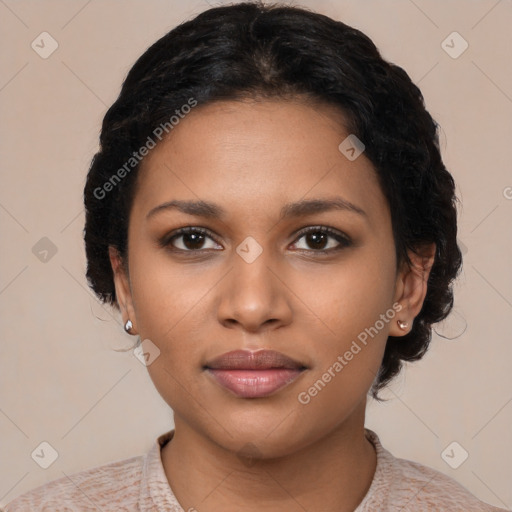
<svg viewBox="0 0 512 512">
<path fill-rule="evenodd" d="M 131 457 L 58 478 L 8 503 L 4 512 L 135 511 L 143 456 Z"/>
</svg>

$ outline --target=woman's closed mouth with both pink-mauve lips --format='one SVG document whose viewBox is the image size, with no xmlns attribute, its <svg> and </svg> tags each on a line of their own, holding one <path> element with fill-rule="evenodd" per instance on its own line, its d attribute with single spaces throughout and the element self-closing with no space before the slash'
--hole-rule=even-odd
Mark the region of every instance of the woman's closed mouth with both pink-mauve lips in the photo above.
<svg viewBox="0 0 512 512">
<path fill-rule="evenodd" d="M 215 382 L 241 398 L 263 398 L 295 381 L 307 367 L 280 352 L 235 350 L 204 367 Z"/>
</svg>

